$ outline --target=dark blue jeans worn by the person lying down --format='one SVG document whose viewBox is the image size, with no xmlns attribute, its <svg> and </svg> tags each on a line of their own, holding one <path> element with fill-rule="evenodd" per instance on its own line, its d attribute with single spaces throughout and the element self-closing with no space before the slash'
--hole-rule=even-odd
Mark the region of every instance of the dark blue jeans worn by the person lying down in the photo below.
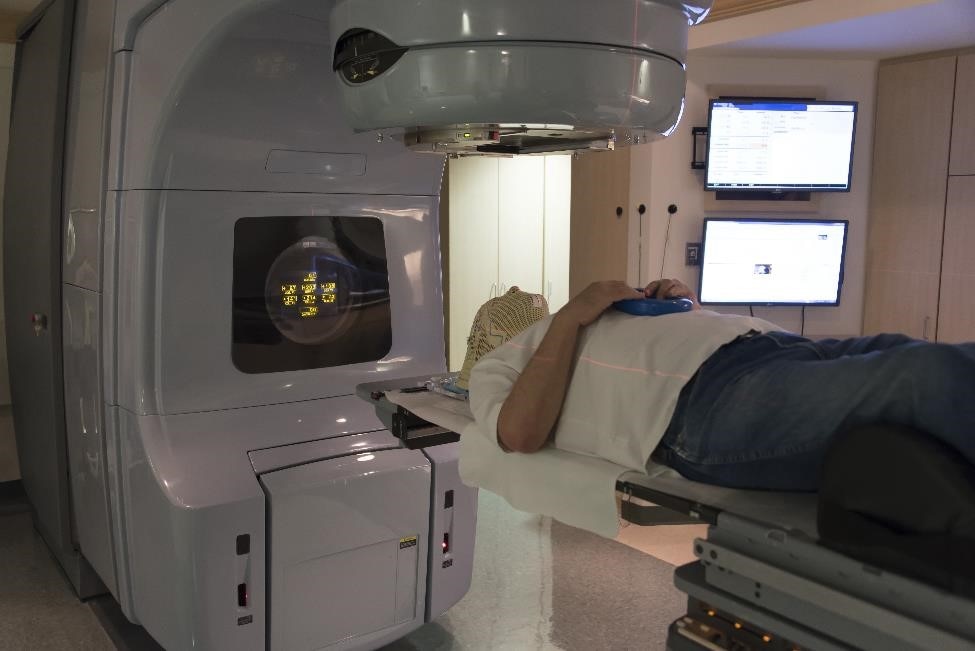
<svg viewBox="0 0 975 651">
<path fill-rule="evenodd" d="M 653 460 L 709 484 L 814 491 L 832 437 L 879 423 L 926 432 L 975 464 L 975 343 L 739 338 L 681 392 Z"/>
</svg>

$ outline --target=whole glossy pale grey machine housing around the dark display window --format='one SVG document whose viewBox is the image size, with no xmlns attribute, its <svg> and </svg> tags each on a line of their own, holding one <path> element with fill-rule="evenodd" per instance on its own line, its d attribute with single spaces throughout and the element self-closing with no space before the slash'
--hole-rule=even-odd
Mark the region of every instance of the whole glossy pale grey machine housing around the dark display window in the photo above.
<svg viewBox="0 0 975 651">
<path fill-rule="evenodd" d="M 98 449 L 101 403 L 109 467 L 72 474 L 78 512 L 109 514 L 80 520 L 82 551 L 165 648 L 375 648 L 470 585 L 476 491 L 456 446 L 403 449 L 353 395 L 445 370 L 443 160 L 345 126 L 327 6 L 240 5 L 166 3 L 112 56 L 106 219 L 65 222 L 65 321 L 85 324 L 66 327 L 65 387 L 85 394 L 69 447 L 89 441 L 79 465 Z M 235 227 L 333 216 L 382 223 L 388 354 L 242 372 Z M 78 269 L 102 271 L 79 287 Z"/>
</svg>

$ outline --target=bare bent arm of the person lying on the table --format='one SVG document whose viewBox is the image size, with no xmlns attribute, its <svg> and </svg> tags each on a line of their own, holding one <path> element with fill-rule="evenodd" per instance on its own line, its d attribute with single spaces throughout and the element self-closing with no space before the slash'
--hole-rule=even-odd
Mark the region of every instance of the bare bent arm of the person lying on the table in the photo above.
<svg viewBox="0 0 975 651">
<path fill-rule="evenodd" d="M 589 285 L 559 310 L 501 406 L 498 443 L 502 448 L 535 452 L 545 445 L 562 411 L 579 329 L 599 318 L 614 301 L 641 296 L 624 282 L 602 281 Z"/>
</svg>

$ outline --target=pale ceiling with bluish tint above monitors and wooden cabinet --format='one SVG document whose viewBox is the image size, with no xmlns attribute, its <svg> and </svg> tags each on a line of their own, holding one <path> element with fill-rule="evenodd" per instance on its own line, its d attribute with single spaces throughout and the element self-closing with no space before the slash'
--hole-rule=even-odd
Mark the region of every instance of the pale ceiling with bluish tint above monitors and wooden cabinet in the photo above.
<svg viewBox="0 0 975 651">
<path fill-rule="evenodd" d="M 806 0 L 695 27 L 696 54 L 889 59 L 975 46 L 975 0 Z"/>
</svg>

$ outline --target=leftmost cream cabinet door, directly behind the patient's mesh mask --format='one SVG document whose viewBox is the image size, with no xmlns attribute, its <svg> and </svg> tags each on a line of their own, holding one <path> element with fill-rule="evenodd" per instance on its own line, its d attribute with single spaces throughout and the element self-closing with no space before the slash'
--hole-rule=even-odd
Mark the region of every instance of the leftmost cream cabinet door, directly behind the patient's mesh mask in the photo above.
<svg viewBox="0 0 975 651">
<path fill-rule="evenodd" d="M 498 160 L 450 161 L 450 346 L 459 370 L 477 309 L 498 292 Z"/>
</svg>

